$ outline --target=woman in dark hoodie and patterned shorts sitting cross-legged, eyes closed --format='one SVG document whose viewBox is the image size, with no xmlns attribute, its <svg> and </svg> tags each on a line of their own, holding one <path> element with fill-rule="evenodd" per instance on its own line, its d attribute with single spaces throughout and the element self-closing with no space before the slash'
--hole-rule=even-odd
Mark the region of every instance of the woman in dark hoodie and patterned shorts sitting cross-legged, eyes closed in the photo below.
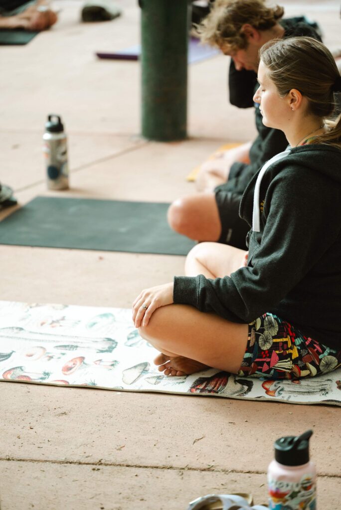
<svg viewBox="0 0 341 510">
<path fill-rule="evenodd" d="M 341 118 L 329 120 L 341 78 L 322 43 L 298 37 L 260 49 L 258 81 L 263 123 L 289 145 L 243 194 L 248 256 L 198 244 L 187 276 L 133 304 L 166 375 L 212 367 L 290 379 L 341 365 Z"/>
</svg>

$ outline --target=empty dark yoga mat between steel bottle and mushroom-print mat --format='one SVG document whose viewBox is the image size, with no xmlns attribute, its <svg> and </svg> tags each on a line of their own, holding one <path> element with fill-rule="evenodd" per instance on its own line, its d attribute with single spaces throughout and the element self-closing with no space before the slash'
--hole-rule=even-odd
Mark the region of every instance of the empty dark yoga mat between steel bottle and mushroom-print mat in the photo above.
<svg viewBox="0 0 341 510">
<path fill-rule="evenodd" d="M 186 255 L 169 204 L 38 196 L 0 222 L 0 244 Z"/>
</svg>

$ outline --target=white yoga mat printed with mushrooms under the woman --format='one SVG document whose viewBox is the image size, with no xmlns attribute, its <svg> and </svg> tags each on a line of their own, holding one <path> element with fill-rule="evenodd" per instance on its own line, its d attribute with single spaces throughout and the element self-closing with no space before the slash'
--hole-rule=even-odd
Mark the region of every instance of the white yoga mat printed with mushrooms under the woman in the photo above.
<svg viewBox="0 0 341 510">
<path fill-rule="evenodd" d="M 341 405 L 341 369 L 261 380 L 209 369 L 167 377 L 153 364 L 131 310 L 0 301 L 0 379 L 116 391 Z"/>
</svg>

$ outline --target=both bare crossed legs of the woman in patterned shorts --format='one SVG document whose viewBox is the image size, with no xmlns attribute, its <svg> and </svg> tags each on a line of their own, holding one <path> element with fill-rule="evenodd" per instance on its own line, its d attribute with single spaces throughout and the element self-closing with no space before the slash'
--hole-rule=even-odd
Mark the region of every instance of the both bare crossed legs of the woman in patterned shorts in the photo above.
<svg viewBox="0 0 341 510">
<path fill-rule="evenodd" d="M 243 265 L 245 251 L 217 243 L 201 243 L 187 255 L 187 276 L 230 275 Z M 187 305 L 169 305 L 140 328 L 143 338 L 161 351 L 155 359 L 165 375 L 184 375 L 213 367 L 237 372 L 245 352 L 248 326 L 235 324 Z"/>
</svg>

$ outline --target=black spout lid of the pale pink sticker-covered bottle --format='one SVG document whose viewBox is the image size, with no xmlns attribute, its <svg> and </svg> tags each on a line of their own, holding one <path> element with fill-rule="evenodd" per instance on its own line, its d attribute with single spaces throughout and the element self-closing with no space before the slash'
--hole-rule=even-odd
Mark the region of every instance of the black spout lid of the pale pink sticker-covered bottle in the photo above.
<svg viewBox="0 0 341 510">
<path fill-rule="evenodd" d="M 301 436 L 286 436 L 275 441 L 275 460 L 284 466 L 301 466 L 309 462 L 309 439 L 312 430 Z"/>
</svg>

